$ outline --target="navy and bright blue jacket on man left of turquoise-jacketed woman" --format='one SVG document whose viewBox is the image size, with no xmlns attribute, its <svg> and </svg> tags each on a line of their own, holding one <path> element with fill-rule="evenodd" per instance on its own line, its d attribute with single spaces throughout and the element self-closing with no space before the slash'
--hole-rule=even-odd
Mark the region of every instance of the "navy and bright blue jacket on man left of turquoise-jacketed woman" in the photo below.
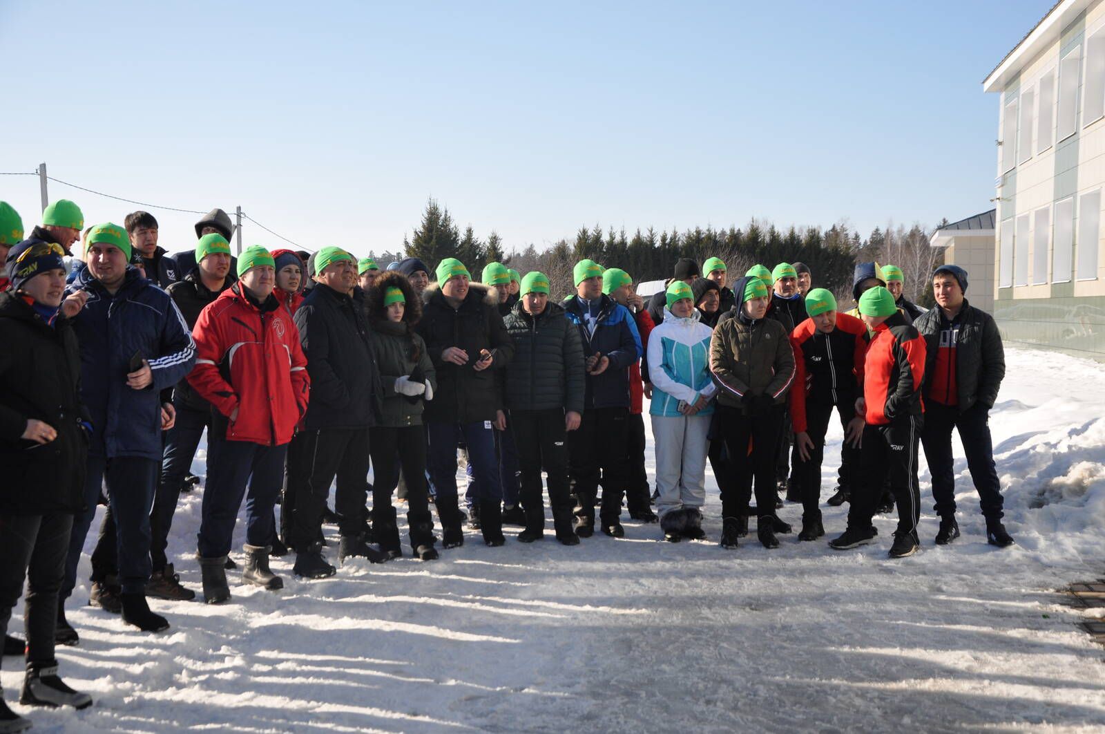
<svg viewBox="0 0 1105 734">
<path fill-rule="evenodd" d="M 610 358 L 610 366 L 601 375 L 587 375 L 583 410 L 590 408 L 629 408 L 629 368 L 641 358 L 641 335 L 633 323 L 633 315 L 610 296 L 602 295 L 594 332 L 587 328 L 583 307 L 571 296 L 564 306 L 568 321 L 579 329 L 583 343 L 583 359 L 598 353 Z"/>
</svg>

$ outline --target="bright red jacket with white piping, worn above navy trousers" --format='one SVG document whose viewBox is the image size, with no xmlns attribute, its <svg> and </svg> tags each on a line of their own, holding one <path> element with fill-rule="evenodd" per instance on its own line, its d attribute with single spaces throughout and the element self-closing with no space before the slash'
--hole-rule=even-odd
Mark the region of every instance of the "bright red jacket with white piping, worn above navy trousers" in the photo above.
<svg viewBox="0 0 1105 734">
<path fill-rule="evenodd" d="M 281 445 L 307 411 L 307 359 L 276 297 L 257 307 L 241 289 L 234 283 L 200 312 L 188 384 L 225 419 L 238 409 L 235 420 L 217 421 L 219 429 L 227 422 L 227 440 Z"/>
</svg>

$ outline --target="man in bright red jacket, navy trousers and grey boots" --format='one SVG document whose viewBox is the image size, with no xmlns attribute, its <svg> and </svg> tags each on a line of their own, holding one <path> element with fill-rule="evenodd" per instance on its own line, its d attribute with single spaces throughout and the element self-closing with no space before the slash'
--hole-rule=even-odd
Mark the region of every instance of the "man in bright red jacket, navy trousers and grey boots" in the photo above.
<svg viewBox="0 0 1105 734">
<path fill-rule="evenodd" d="M 292 316 L 273 295 L 276 268 L 262 247 L 238 258 L 238 282 L 196 322 L 196 369 L 188 384 L 214 407 L 208 433 L 199 556 L 203 598 L 230 598 L 224 564 L 249 482 L 242 580 L 267 589 L 284 583 L 269 569 L 273 505 L 284 478 L 284 454 L 307 411 L 311 378 Z"/>
</svg>

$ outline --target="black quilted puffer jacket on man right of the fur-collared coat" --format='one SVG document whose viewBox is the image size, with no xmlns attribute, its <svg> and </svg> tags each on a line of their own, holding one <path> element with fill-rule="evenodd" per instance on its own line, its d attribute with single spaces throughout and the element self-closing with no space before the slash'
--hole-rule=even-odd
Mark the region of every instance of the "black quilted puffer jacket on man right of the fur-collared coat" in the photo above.
<svg viewBox="0 0 1105 734">
<path fill-rule="evenodd" d="M 506 366 L 506 405 L 511 410 L 564 408 L 583 412 L 585 363 L 579 329 L 551 301 L 536 318 L 522 303 L 504 321 L 514 339 Z"/>
</svg>

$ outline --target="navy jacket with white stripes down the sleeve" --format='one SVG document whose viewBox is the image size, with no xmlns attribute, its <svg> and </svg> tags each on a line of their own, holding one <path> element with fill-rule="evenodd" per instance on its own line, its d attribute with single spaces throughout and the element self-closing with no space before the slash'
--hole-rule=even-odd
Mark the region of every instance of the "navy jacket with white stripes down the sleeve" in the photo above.
<svg viewBox="0 0 1105 734">
<path fill-rule="evenodd" d="M 81 398 L 92 416 L 90 455 L 161 460 L 160 392 L 191 371 L 196 343 L 169 294 L 128 268 L 113 297 L 88 270 L 70 287 L 88 302 L 73 319 L 81 345 Z M 154 382 L 127 386 L 130 358 L 140 353 Z"/>
</svg>

